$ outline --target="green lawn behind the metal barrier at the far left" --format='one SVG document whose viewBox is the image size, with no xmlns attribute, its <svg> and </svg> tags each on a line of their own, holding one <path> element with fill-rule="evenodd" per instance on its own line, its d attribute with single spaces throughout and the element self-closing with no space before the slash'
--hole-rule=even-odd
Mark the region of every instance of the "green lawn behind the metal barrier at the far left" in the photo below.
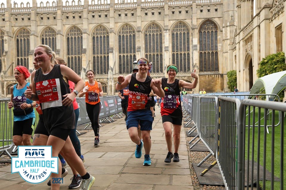
<svg viewBox="0 0 286 190">
<path fill-rule="evenodd" d="M 12 108 L 13 109 L 13 108 Z M 13 111 L 12 109 L 8 109 L 7 103 L 5 104 L 5 102 L 1 102 L 0 103 L 0 147 L 2 147 L 3 145 L 7 145 L 7 142 L 3 142 L 3 139 L 12 139 L 12 135 L 13 135 Z M 38 123 L 38 112 L 35 110 L 35 114 L 36 114 L 36 123 L 35 126 L 37 126 Z M 35 127 L 32 127 L 33 129 L 35 129 Z M 34 130 L 32 133 L 32 136 L 34 135 Z M 32 139 L 31 139 L 32 142 Z M 11 142 L 9 142 L 8 144 L 11 144 Z"/>
</svg>

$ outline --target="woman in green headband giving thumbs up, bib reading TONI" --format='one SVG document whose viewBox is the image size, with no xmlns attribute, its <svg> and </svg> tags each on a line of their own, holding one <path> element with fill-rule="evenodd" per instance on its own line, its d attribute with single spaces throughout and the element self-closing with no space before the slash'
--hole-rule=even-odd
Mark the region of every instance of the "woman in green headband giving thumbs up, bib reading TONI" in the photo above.
<svg viewBox="0 0 286 190">
<path fill-rule="evenodd" d="M 193 83 L 188 83 L 181 79 L 176 79 L 176 74 L 178 69 L 175 65 L 167 66 L 168 78 L 160 78 L 162 83 L 162 89 L 165 92 L 164 98 L 161 101 L 161 116 L 162 123 L 165 130 L 165 139 L 168 147 L 168 154 L 165 162 L 170 163 L 171 159 L 174 157 L 173 161 L 178 162 L 179 155 L 178 149 L 180 145 L 180 132 L 182 126 L 182 107 L 181 107 L 181 97 L 180 88 L 195 88 L 198 83 L 198 75 L 195 73 L 196 70 L 191 73 L 191 76 L 195 78 Z M 172 153 L 172 125 L 174 127 L 174 154 Z"/>
</svg>

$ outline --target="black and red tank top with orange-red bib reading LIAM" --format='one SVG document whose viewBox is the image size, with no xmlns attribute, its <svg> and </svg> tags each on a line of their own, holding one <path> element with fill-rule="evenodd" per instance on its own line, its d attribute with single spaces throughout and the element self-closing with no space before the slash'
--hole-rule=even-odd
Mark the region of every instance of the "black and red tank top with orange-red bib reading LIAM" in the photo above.
<svg viewBox="0 0 286 190">
<path fill-rule="evenodd" d="M 129 98 L 127 111 L 150 110 L 150 76 L 144 82 L 137 81 L 136 73 L 133 73 L 129 83 Z"/>
</svg>

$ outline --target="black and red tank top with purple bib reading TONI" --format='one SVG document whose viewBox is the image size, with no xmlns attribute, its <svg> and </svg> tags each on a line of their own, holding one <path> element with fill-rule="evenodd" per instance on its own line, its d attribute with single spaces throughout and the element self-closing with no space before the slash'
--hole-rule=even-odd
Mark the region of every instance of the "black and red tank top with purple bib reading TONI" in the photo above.
<svg viewBox="0 0 286 190">
<path fill-rule="evenodd" d="M 165 96 L 161 101 L 162 116 L 183 117 L 179 80 L 175 79 L 174 83 L 168 84 L 168 78 L 162 78 L 162 89 L 165 92 Z"/>
</svg>

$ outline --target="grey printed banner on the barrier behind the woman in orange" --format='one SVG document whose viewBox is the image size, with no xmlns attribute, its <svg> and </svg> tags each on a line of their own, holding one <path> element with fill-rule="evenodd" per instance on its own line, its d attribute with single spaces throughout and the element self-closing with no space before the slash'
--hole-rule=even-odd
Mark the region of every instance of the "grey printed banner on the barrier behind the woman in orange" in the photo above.
<svg viewBox="0 0 286 190">
<path fill-rule="evenodd" d="M 77 125 L 89 123 L 90 120 L 86 112 L 85 98 L 76 98 L 76 100 L 80 111 L 80 115 L 77 120 Z M 99 119 L 122 112 L 121 98 L 119 98 L 118 96 L 100 97 L 100 104 L 101 109 Z"/>
</svg>

